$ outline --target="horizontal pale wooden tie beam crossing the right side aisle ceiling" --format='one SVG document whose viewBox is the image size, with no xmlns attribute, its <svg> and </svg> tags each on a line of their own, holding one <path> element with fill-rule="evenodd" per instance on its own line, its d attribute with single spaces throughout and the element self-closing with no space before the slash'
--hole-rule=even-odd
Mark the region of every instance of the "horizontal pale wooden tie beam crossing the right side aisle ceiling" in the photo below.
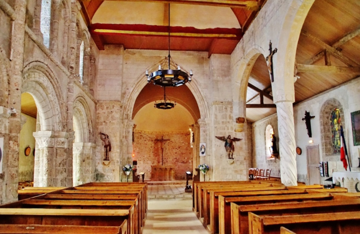
<svg viewBox="0 0 360 234">
<path fill-rule="evenodd" d="M 337 66 L 319 66 L 296 64 L 297 72 L 305 73 L 358 73 L 360 74 L 360 67 L 337 67 Z"/>
</svg>

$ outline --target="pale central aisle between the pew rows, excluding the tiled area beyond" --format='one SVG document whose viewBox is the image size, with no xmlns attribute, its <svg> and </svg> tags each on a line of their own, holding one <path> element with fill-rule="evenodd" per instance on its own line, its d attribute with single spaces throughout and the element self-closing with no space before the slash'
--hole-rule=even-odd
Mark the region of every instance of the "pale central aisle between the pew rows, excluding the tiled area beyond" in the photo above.
<svg viewBox="0 0 360 234">
<path fill-rule="evenodd" d="M 209 234 L 192 211 L 191 199 L 151 199 L 143 234 Z"/>
</svg>

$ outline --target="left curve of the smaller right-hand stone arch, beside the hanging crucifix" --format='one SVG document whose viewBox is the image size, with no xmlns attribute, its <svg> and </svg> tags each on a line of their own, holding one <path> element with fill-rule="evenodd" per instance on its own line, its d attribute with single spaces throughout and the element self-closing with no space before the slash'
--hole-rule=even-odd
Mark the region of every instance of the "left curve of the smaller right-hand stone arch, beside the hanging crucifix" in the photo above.
<svg viewBox="0 0 360 234">
<path fill-rule="evenodd" d="M 239 69 L 235 76 L 233 93 L 235 95 L 234 100 L 239 102 L 239 116 L 246 118 L 246 92 L 248 89 L 248 81 L 252 71 L 252 67 L 255 64 L 256 59 L 264 54 L 264 50 L 258 46 L 254 45 L 245 56 L 241 59 L 239 63 Z"/>
</svg>

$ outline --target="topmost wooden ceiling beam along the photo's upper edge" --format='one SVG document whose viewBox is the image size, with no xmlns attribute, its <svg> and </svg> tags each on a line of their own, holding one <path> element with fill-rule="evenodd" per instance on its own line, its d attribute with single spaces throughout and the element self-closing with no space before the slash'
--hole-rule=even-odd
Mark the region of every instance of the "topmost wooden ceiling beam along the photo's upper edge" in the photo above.
<svg viewBox="0 0 360 234">
<path fill-rule="evenodd" d="M 91 1 L 91 0 L 79 0 Z M 194 5 L 208 5 L 208 6 L 224 6 L 232 8 L 244 8 L 247 10 L 257 11 L 259 6 L 257 1 L 239 1 L 239 0 L 113 0 L 113 1 L 146 1 L 146 2 L 161 2 L 161 3 L 176 3 L 176 4 L 194 4 Z"/>
</svg>

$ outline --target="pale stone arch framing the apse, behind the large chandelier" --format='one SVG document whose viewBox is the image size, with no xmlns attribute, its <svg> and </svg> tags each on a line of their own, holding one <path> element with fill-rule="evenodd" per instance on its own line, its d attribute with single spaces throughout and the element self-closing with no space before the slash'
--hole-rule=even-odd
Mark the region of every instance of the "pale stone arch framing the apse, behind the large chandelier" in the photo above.
<svg viewBox="0 0 360 234">
<path fill-rule="evenodd" d="M 150 67 L 147 67 L 146 69 L 148 71 L 154 71 L 157 69 L 159 62 L 161 60 L 157 61 L 156 63 L 152 64 Z M 146 70 L 145 69 L 145 70 Z M 144 71 L 145 71 L 144 70 Z M 124 111 L 122 112 L 123 119 L 131 119 L 134 104 L 136 101 L 136 98 L 138 97 L 140 91 L 144 88 L 144 86 L 147 84 L 145 81 L 145 76 L 141 75 L 136 79 L 136 82 L 133 83 L 133 85 L 129 88 L 129 91 L 126 93 L 124 100 L 127 100 L 126 103 L 124 103 Z M 199 106 L 200 110 L 200 116 L 202 119 L 210 117 L 210 106 L 209 102 L 207 101 L 207 97 L 203 95 L 204 92 L 201 92 L 203 89 L 201 87 L 201 84 L 199 81 L 195 78 L 192 78 L 191 84 L 187 86 L 192 94 L 195 97 L 195 100 Z"/>
</svg>

